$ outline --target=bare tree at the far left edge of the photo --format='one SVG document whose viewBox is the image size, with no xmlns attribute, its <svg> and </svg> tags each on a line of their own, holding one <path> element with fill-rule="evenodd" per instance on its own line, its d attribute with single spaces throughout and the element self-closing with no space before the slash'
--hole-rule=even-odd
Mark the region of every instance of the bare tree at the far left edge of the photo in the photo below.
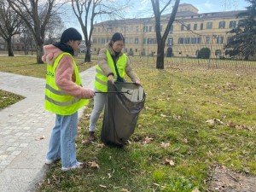
<svg viewBox="0 0 256 192">
<path fill-rule="evenodd" d="M 8 55 L 14 56 L 12 38 L 20 32 L 20 16 L 5 1 L 0 3 L 0 36 L 6 41 Z"/>
</svg>

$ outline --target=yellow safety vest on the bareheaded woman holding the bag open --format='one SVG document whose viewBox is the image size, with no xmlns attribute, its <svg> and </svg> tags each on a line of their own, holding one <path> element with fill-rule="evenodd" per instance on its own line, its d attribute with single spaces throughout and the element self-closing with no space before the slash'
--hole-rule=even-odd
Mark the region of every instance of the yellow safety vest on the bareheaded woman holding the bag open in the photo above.
<svg viewBox="0 0 256 192">
<path fill-rule="evenodd" d="M 126 60 L 127 60 L 127 57 L 125 54 L 123 54 L 119 56 L 119 59 L 116 62 L 116 66 L 119 70 L 119 75 L 121 78 L 125 77 Z M 108 61 L 108 67 L 110 67 L 113 72 L 113 80 L 116 81 L 117 74 L 115 72 L 113 59 L 108 49 L 107 49 L 107 61 Z M 95 78 L 94 85 L 97 90 L 101 90 L 102 92 L 108 91 L 108 77 L 106 76 L 105 73 L 103 73 L 102 68 L 99 66 L 96 66 L 96 78 Z"/>
</svg>

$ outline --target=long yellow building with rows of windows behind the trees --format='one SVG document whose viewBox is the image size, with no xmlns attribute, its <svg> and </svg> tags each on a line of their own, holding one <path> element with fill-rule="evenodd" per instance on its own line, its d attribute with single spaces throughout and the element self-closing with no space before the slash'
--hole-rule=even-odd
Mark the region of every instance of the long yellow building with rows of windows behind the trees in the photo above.
<svg viewBox="0 0 256 192">
<path fill-rule="evenodd" d="M 180 4 L 175 21 L 166 39 L 165 54 L 168 56 L 196 57 L 201 48 L 209 48 L 212 58 L 229 57 L 225 55 L 232 28 L 241 18 L 236 15 L 241 11 L 212 12 L 198 14 L 198 9 L 188 3 Z M 166 29 L 170 15 L 162 15 L 162 33 Z M 128 55 L 152 56 L 157 52 L 157 42 L 153 18 L 126 20 L 108 20 L 94 25 L 92 53 L 98 53 L 114 32 L 121 32 L 125 37 L 124 51 Z"/>
</svg>

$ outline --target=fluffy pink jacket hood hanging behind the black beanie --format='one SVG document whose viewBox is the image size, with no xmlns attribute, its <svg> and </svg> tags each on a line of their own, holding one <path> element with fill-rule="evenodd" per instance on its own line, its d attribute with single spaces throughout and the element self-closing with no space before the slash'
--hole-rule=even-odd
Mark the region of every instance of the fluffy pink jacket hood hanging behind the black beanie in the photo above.
<svg viewBox="0 0 256 192">
<path fill-rule="evenodd" d="M 50 65 L 52 65 L 57 58 L 58 55 L 61 55 L 63 51 L 61 49 L 55 47 L 53 44 L 44 46 L 44 55 L 42 56 L 42 60 Z"/>
</svg>

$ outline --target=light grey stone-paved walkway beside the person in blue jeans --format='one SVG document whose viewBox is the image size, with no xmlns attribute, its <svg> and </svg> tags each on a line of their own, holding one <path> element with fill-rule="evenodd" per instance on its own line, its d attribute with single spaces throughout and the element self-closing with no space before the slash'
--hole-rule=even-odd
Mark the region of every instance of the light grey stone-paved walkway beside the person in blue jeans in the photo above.
<svg viewBox="0 0 256 192">
<path fill-rule="evenodd" d="M 93 89 L 95 67 L 80 74 Z M 26 98 L 0 110 L 0 191 L 34 191 L 44 177 L 44 160 L 55 114 L 44 110 L 45 79 L 0 72 L 0 90 Z M 83 109 L 79 110 L 79 116 Z M 45 139 L 37 140 L 45 136 Z"/>
</svg>

